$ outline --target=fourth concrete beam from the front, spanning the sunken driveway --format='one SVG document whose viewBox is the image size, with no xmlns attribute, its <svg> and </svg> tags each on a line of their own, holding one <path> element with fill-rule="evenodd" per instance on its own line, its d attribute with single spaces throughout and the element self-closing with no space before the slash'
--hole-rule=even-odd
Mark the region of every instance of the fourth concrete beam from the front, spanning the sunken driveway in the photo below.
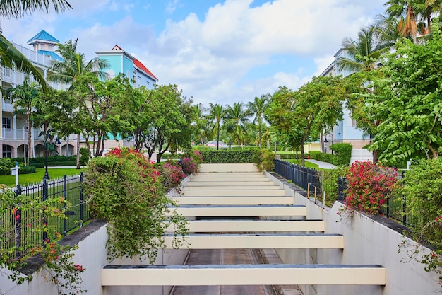
<svg viewBox="0 0 442 295">
<path fill-rule="evenodd" d="M 301 205 L 182 205 L 169 207 L 183 216 L 306 216 Z"/>
</svg>

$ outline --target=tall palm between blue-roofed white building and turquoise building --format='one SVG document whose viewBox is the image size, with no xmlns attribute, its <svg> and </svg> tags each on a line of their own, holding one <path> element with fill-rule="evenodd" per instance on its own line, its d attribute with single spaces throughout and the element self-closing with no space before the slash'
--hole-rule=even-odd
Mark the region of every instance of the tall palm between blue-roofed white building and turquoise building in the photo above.
<svg viewBox="0 0 442 295">
<path fill-rule="evenodd" d="M 55 60 L 52 62 L 50 70 L 54 71 L 54 74 L 47 77 L 49 81 L 71 83 L 71 90 L 73 90 L 73 82 L 78 79 L 79 76 L 92 73 L 100 78 L 107 78 L 104 69 L 109 68 L 109 62 L 107 59 L 101 59 L 95 57 L 89 62 L 86 62 L 85 54 L 77 52 L 77 41 L 72 39 L 64 44 L 58 44 L 56 52 L 64 59 L 63 61 Z M 80 134 L 77 134 L 77 168 L 80 168 Z"/>
</svg>

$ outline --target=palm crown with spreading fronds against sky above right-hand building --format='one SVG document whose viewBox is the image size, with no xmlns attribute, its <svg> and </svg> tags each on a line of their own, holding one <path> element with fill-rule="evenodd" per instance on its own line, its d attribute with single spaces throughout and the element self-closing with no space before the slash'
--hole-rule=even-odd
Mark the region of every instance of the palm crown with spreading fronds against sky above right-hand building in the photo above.
<svg viewBox="0 0 442 295">
<path fill-rule="evenodd" d="M 351 37 L 342 40 L 342 49 L 346 52 L 347 57 L 338 57 L 336 66 L 338 71 L 370 71 L 376 66 L 379 57 L 390 49 L 390 45 L 382 42 L 376 33 L 376 27 L 370 26 L 362 28 L 357 40 Z"/>
</svg>

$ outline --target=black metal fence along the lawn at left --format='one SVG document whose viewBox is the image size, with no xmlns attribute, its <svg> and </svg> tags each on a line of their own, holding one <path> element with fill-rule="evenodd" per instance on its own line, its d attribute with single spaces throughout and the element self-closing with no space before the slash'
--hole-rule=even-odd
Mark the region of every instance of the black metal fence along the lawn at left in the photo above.
<svg viewBox="0 0 442 295">
<path fill-rule="evenodd" d="M 2 248 L 14 246 L 26 248 L 28 245 L 42 244 L 46 239 L 56 238 L 48 236 L 47 231 L 32 231 L 35 226 L 44 229 L 46 226 L 42 225 L 47 224 L 47 228 L 54 229 L 61 236 L 66 236 L 69 231 L 83 226 L 83 223 L 91 218 L 85 199 L 83 199 L 83 173 L 70 177 L 64 176 L 57 180 L 43 180 L 42 183 L 25 187 L 18 185 L 14 191 L 16 196 L 26 195 L 37 202 L 54 200 L 51 206 L 60 211 L 66 210 L 66 219 L 54 216 L 44 216 L 41 219 L 40 216 L 33 216 L 30 212 L 20 212 L 16 215 L 19 218 L 14 218 L 14 215 L 8 212 L 0 216 L 2 228 L 6 228 L 4 233 L 0 233 Z M 61 199 L 67 202 L 60 202 Z M 67 204 L 69 207 L 66 207 Z"/>
</svg>

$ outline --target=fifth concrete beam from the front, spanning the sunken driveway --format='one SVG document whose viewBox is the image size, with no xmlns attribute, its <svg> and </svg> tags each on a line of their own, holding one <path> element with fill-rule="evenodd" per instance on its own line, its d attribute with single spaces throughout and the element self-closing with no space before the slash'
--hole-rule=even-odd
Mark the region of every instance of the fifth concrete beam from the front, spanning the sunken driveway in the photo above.
<svg viewBox="0 0 442 295">
<path fill-rule="evenodd" d="M 293 204 L 293 197 L 173 197 L 179 205 Z"/>
</svg>

